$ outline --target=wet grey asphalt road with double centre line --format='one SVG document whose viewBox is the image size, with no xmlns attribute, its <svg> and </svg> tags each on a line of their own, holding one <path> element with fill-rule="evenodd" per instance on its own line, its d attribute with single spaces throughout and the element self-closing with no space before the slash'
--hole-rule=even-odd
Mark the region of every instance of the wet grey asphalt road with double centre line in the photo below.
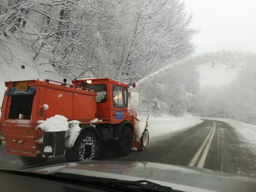
<svg viewBox="0 0 256 192">
<path fill-rule="evenodd" d="M 16 158 L 16 156 L 15 156 Z M 204 120 L 203 123 L 186 130 L 165 134 L 154 141 L 144 151 L 131 152 L 125 157 L 108 155 L 104 160 L 150 161 L 178 164 L 208 169 L 228 171 L 256 177 L 256 155 L 251 152 L 242 138 L 229 124 Z M 19 160 L 1 162 L 0 167 L 25 169 Z M 64 157 L 49 158 L 37 166 L 65 163 Z M 33 166 L 36 167 L 36 166 Z"/>
</svg>

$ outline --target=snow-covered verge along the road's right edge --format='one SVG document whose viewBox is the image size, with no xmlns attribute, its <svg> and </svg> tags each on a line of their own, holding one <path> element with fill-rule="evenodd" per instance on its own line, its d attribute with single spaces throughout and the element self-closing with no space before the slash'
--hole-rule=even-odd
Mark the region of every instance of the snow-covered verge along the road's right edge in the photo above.
<svg viewBox="0 0 256 192">
<path fill-rule="evenodd" d="M 236 121 L 233 119 L 226 118 L 214 118 L 214 117 L 198 117 L 200 119 L 211 119 L 222 121 L 228 123 L 230 126 L 235 128 L 236 132 L 242 135 L 243 138 L 240 138 L 244 144 L 256 154 L 256 126 L 243 123 L 241 121 Z"/>
</svg>

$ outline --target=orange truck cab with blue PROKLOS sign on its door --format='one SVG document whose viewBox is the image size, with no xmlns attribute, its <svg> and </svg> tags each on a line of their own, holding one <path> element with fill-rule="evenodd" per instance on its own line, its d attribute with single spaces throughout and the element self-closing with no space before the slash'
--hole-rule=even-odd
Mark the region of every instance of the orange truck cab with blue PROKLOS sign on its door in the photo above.
<svg viewBox="0 0 256 192">
<path fill-rule="evenodd" d="M 119 124 L 129 121 L 128 89 L 126 83 L 114 79 L 79 79 L 72 80 L 74 86 L 91 89 L 97 93 L 97 117 L 109 119 L 110 124 Z"/>
</svg>

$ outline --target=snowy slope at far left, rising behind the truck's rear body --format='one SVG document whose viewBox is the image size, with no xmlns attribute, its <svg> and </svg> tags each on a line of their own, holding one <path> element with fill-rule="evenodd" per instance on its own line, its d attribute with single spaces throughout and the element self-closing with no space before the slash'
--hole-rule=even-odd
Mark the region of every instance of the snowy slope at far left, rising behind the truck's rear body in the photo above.
<svg viewBox="0 0 256 192">
<path fill-rule="evenodd" d="M 33 60 L 34 53 L 23 49 L 17 42 L 12 40 L 9 36 L 0 36 L 2 45 L 0 46 L 0 103 L 5 88 L 5 81 L 15 80 L 30 80 L 30 79 L 64 79 L 57 73 L 52 65 L 40 65 L 46 60 L 39 58 Z M 8 48 L 7 48 L 8 47 Z M 26 62 L 25 62 L 26 61 Z M 25 66 L 22 69 L 22 65 Z"/>
</svg>

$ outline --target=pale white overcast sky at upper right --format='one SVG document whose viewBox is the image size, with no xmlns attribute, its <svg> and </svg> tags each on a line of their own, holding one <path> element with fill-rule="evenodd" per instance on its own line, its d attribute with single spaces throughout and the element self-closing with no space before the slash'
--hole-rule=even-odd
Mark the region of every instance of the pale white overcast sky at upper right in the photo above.
<svg viewBox="0 0 256 192">
<path fill-rule="evenodd" d="M 184 0 L 193 13 L 191 26 L 201 29 L 193 42 L 196 53 L 222 49 L 256 52 L 255 0 Z"/>
</svg>

